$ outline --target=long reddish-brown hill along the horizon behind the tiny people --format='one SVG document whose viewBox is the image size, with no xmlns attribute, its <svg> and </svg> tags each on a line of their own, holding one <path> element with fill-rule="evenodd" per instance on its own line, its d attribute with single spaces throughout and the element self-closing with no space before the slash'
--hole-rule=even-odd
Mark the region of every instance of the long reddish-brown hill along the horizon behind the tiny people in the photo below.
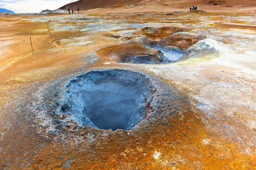
<svg viewBox="0 0 256 170">
<path fill-rule="evenodd" d="M 170 8 L 187 8 L 190 6 L 200 6 L 208 9 L 225 8 L 230 9 L 234 6 L 239 10 L 255 8 L 256 0 L 78 0 L 62 6 L 56 10 L 44 10 L 41 13 L 60 13 L 67 12 L 73 8 L 77 11 L 85 11 L 95 8 L 136 8 L 145 6 L 168 6 Z"/>
</svg>

